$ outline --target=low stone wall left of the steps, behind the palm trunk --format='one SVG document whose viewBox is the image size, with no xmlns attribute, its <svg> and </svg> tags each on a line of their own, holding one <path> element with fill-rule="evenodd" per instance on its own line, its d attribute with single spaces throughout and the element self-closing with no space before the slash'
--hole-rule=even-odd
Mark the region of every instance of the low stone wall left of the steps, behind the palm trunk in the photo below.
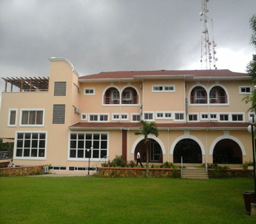
<svg viewBox="0 0 256 224">
<path fill-rule="evenodd" d="M 146 177 L 147 168 L 99 167 L 100 177 Z M 180 169 L 149 168 L 150 177 L 180 177 Z"/>
</svg>

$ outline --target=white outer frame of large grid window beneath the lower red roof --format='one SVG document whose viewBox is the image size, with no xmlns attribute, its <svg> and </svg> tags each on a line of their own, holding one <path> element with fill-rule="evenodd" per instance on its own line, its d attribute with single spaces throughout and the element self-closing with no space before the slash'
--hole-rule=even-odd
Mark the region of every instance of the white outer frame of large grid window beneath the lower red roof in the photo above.
<svg viewBox="0 0 256 224">
<path fill-rule="evenodd" d="M 70 157 L 70 134 L 107 134 L 108 135 L 108 141 L 107 141 L 107 148 L 104 150 L 107 150 L 107 157 L 109 156 L 109 132 L 104 132 L 104 131 L 69 131 L 68 132 L 68 161 L 88 161 L 88 158 L 73 158 Z M 77 149 L 76 149 L 77 150 Z M 90 158 L 90 161 L 99 161 L 100 158 Z M 68 169 L 69 171 L 69 169 Z"/>
</svg>

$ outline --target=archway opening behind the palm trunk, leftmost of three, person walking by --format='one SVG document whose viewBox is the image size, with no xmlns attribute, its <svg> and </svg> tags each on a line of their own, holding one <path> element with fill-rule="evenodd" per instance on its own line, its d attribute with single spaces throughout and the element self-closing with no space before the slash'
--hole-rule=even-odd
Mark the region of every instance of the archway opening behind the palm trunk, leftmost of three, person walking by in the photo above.
<svg viewBox="0 0 256 224">
<path fill-rule="evenodd" d="M 148 162 L 163 163 L 163 150 L 156 140 L 148 139 Z M 134 150 L 134 161 L 137 160 L 137 153 L 140 152 L 141 162 L 147 163 L 147 149 L 144 140 L 141 140 Z"/>
</svg>

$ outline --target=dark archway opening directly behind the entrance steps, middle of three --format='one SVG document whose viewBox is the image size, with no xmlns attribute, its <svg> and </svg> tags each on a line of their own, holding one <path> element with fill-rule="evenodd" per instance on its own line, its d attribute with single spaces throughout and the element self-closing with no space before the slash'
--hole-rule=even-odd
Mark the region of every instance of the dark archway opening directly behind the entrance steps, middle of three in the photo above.
<svg viewBox="0 0 256 224">
<path fill-rule="evenodd" d="M 202 163 L 200 145 L 191 138 L 180 140 L 173 150 L 173 163 Z"/>
</svg>

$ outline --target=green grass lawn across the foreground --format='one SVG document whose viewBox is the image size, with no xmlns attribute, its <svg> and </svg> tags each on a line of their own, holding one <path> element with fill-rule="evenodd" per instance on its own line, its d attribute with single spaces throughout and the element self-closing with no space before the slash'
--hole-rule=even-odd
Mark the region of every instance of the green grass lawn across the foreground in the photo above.
<svg viewBox="0 0 256 224">
<path fill-rule="evenodd" d="M 1 177 L 0 223 L 256 223 L 253 179 Z"/>
</svg>

